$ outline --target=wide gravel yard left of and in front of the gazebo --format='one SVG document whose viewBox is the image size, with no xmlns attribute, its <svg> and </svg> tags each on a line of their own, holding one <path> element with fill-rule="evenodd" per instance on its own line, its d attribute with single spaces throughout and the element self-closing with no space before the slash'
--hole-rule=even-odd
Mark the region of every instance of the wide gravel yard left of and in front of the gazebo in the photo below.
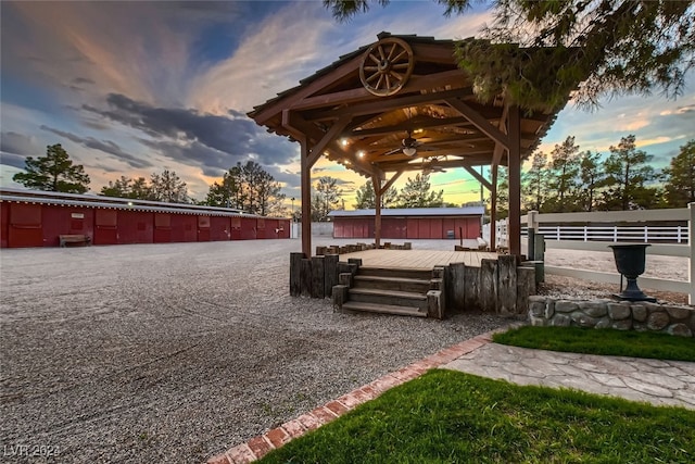
<svg viewBox="0 0 695 464">
<path fill-rule="evenodd" d="M 507 323 L 337 314 L 329 300 L 290 298 L 300 248 L 3 249 L 3 462 L 200 463 Z"/>
</svg>

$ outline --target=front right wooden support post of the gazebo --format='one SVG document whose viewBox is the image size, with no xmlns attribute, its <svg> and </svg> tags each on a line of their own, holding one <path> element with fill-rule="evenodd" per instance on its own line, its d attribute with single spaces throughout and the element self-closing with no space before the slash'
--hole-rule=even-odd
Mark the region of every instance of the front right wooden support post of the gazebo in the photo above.
<svg viewBox="0 0 695 464">
<path fill-rule="evenodd" d="M 509 254 L 521 258 L 521 120 L 519 106 L 509 108 Z"/>
</svg>

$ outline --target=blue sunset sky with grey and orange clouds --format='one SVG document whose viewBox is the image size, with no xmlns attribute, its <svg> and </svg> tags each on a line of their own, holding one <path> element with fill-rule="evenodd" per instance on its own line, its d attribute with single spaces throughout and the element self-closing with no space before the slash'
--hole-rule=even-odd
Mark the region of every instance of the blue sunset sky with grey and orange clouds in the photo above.
<svg viewBox="0 0 695 464">
<path fill-rule="evenodd" d="M 377 34 L 439 39 L 475 36 L 484 8 L 444 17 L 433 1 L 393 1 L 338 23 L 320 1 L 9 2 L 1 8 L 0 139 L 3 187 L 27 155 L 62 143 L 99 192 L 122 175 L 175 171 L 193 198 L 237 162 L 253 160 L 300 198 L 299 145 L 267 134 L 245 116 Z M 658 95 L 571 104 L 543 139 L 576 136 L 582 150 L 608 152 L 635 134 L 667 165 L 695 138 L 695 75 L 678 100 Z M 338 177 L 352 206 L 365 179 L 319 161 L 314 176 Z M 432 175 L 445 201 L 479 198 L 463 171 Z M 397 187 L 397 185 L 396 185 Z"/>
</svg>

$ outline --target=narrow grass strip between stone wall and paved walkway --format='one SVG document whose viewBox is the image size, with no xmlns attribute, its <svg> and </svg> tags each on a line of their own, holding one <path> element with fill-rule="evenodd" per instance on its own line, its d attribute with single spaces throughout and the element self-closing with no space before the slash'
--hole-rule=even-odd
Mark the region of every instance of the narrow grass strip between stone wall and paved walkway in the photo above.
<svg viewBox="0 0 695 464">
<path fill-rule="evenodd" d="M 541 350 L 695 362 L 695 339 L 668 334 L 523 326 L 495 334 L 492 339 L 496 343 Z"/>
</svg>

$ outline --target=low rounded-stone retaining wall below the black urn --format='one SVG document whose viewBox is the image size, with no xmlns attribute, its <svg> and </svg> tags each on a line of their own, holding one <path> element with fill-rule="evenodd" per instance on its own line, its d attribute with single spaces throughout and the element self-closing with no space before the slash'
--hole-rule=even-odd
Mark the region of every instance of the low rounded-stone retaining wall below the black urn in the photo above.
<svg viewBox="0 0 695 464">
<path fill-rule="evenodd" d="M 695 308 L 644 301 L 572 301 L 529 297 L 529 319 L 535 326 L 579 326 L 662 331 L 695 337 Z"/>
</svg>

